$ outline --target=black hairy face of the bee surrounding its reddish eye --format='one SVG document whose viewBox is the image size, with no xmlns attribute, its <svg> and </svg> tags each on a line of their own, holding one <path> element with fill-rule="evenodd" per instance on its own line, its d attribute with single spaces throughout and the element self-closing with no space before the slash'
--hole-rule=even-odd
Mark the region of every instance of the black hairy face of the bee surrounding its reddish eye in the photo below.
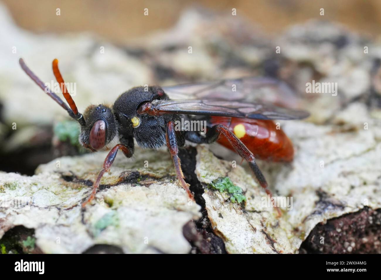
<svg viewBox="0 0 381 280">
<path fill-rule="evenodd" d="M 109 106 L 99 104 L 90 105 L 86 108 L 83 117 L 85 118 L 86 125 L 81 126 L 81 133 L 79 136 L 79 141 L 81 144 L 90 145 L 90 134 L 96 122 L 103 121 L 104 123 L 104 146 L 107 146 L 112 139 L 117 135 L 117 120 Z"/>
</svg>

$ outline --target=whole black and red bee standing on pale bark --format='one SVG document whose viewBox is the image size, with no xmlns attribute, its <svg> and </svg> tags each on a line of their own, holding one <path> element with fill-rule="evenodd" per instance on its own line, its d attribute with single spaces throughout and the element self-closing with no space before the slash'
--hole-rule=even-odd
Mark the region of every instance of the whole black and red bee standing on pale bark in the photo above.
<svg viewBox="0 0 381 280">
<path fill-rule="evenodd" d="M 281 129 L 277 129 L 273 120 L 295 120 L 309 116 L 303 110 L 263 102 L 259 90 L 266 86 L 286 96 L 284 100 L 295 98 L 284 83 L 263 77 L 169 87 L 138 86 L 122 93 L 113 106 L 90 105 L 82 115 L 66 89 L 57 59 L 53 60 L 53 74 L 69 106 L 45 86 L 22 58 L 19 64 L 45 93 L 77 120 L 81 127 L 79 142 L 83 147 L 96 152 L 118 138 L 119 144 L 108 153 L 83 207 L 94 199 L 99 182 L 103 174 L 109 172 L 117 152 L 120 150 L 125 157 L 132 157 L 134 139 L 144 148 L 168 147 L 179 184 L 192 200 L 194 197 L 184 180 L 178 157 L 179 148 L 184 147 L 186 141 L 197 144 L 218 142 L 233 150 L 247 161 L 259 185 L 272 196 L 256 158 L 290 162 L 294 156 L 290 139 Z M 206 133 L 176 129 L 175 123 L 184 123 L 184 120 L 205 122 Z"/>
</svg>

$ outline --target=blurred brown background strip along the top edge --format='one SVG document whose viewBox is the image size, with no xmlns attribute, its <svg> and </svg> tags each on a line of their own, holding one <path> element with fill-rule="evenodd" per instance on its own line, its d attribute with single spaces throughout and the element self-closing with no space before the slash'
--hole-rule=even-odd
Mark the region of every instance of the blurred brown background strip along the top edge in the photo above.
<svg viewBox="0 0 381 280">
<path fill-rule="evenodd" d="M 379 35 L 379 0 L 2 0 L 17 24 L 34 32 L 92 31 L 116 43 L 173 26 L 181 11 L 201 6 L 221 13 L 237 9 L 266 32 L 277 33 L 308 19 L 338 21 L 362 34 Z M 56 16 L 56 8 L 61 16 Z M 144 16 L 149 9 L 149 17 Z M 325 15 L 320 16 L 320 8 Z"/>
</svg>

